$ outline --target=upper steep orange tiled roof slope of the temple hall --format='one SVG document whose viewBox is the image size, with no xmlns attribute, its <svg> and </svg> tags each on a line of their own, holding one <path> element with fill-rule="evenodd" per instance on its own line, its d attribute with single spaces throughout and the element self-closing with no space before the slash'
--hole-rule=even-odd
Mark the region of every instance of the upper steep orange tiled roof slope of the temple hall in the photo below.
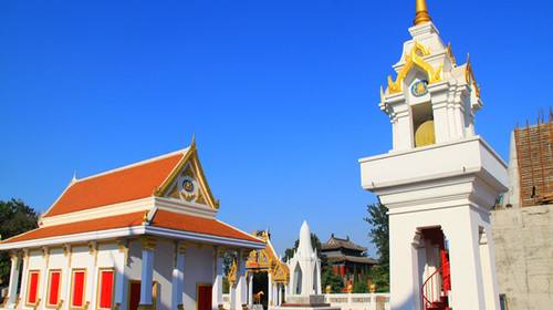
<svg viewBox="0 0 553 310">
<path fill-rule="evenodd" d="M 178 165 L 186 152 L 178 152 L 69 185 L 44 217 L 150 197 Z"/>
</svg>

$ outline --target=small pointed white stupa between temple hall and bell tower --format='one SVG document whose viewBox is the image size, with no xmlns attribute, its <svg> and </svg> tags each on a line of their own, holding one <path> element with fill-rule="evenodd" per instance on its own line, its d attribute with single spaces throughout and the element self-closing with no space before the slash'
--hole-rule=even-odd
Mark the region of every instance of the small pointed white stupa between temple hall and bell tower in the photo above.
<svg viewBox="0 0 553 310">
<path fill-rule="evenodd" d="M 290 268 L 290 294 L 321 294 L 321 260 L 311 245 L 311 230 L 306 221 L 300 229 L 300 245 L 294 257 L 288 262 Z"/>
</svg>

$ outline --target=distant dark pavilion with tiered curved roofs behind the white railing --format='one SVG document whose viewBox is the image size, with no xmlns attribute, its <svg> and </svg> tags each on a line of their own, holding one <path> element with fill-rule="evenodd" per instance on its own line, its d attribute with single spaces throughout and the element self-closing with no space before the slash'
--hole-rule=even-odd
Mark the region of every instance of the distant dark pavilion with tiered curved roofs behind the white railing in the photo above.
<svg viewBox="0 0 553 310">
<path fill-rule="evenodd" d="M 366 250 L 367 248 L 349 240 L 349 237 L 343 239 L 334 234 L 321 245 L 321 255 L 332 266 L 334 273 L 342 277 L 344 283 L 363 280 L 371 268 L 378 264 L 375 259 L 366 256 Z"/>
</svg>

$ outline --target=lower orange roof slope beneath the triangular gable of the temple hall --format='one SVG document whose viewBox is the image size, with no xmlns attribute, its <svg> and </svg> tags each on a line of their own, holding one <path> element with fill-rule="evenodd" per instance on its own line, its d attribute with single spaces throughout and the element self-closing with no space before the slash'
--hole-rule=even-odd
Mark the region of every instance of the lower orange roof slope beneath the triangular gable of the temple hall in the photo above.
<svg viewBox="0 0 553 310">
<path fill-rule="evenodd" d="M 167 210 L 157 210 L 150 226 L 261 242 L 258 238 L 215 218 L 202 218 Z"/>
</svg>

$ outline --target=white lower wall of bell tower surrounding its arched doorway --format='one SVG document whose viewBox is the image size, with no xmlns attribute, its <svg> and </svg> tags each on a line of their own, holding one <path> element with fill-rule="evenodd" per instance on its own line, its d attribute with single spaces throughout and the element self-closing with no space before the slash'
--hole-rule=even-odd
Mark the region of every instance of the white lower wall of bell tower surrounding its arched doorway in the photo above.
<svg viewBox="0 0 553 310">
<path fill-rule="evenodd" d="M 484 308 L 483 288 L 478 251 L 478 225 L 469 206 L 427 211 L 395 214 L 389 218 L 390 229 L 390 291 L 392 308 L 420 309 L 421 297 L 416 285 L 424 279 L 421 266 L 415 258 L 413 241 L 417 228 L 441 226 L 450 246 L 453 309 Z M 476 227 L 474 227 L 476 226 Z M 408 280 L 408 275 L 414 275 Z"/>
</svg>

